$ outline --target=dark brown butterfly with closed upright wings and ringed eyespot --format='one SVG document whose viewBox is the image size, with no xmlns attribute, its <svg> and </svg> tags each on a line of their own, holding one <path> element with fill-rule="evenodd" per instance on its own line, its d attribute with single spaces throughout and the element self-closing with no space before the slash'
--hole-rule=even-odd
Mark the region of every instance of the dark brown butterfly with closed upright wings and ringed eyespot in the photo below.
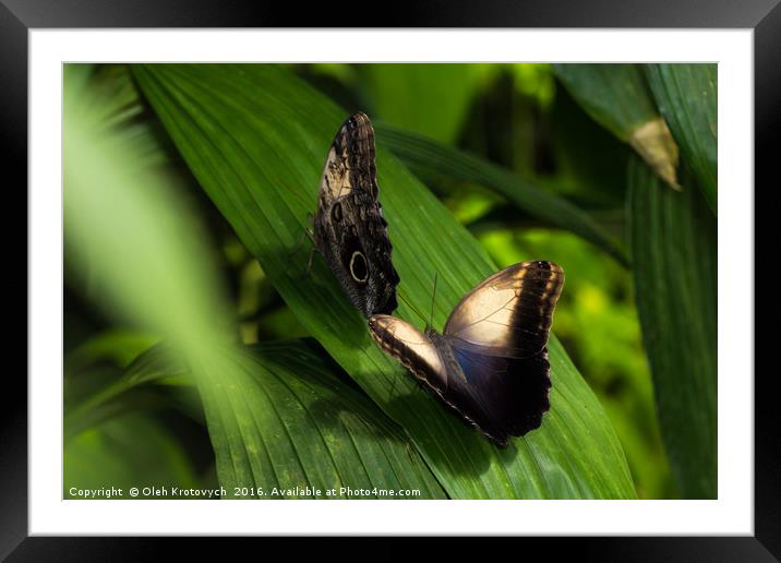
<svg viewBox="0 0 781 563">
<path fill-rule="evenodd" d="M 392 313 L 399 277 L 377 200 L 374 130 L 365 113 L 341 125 L 328 151 L 314 216 L 314 244 L 352 304 L 369 318 Z"/>
</svg>

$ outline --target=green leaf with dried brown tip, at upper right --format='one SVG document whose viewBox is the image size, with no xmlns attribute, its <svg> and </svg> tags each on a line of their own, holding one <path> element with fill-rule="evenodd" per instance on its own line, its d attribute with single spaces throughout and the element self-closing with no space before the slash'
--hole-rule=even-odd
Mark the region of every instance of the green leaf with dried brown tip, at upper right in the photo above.
<svg viewBox="0 0 781 563">
<path fill-rule="evenodd" d="M 558 80 L 594 121 L 629 143 L 668 184 L 680 189 L 678 148 L 637 64 L 554 64 Z"/>
</svg>

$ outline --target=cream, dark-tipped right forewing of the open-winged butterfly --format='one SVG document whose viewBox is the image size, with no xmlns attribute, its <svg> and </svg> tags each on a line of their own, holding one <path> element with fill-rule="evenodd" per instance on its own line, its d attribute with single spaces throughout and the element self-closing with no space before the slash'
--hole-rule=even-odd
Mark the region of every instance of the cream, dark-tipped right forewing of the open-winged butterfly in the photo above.
<svg viewBox="0 0 781 563">
<path fill-rule="evenodd" d="M 530 358 L 548 344 L 564 271 L 522 262 L 489 277 L 455 307 L 445 325 L 454 348 L 481 356 Z"/>
</svg>

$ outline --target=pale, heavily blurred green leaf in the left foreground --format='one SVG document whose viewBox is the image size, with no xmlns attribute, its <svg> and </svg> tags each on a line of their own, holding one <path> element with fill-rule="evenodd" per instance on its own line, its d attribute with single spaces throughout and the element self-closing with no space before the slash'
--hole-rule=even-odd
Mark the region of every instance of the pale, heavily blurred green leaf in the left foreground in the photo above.
<svg viewBox="0 0 781 563">
<path fill-rule="evenodd" d="M 200 349 L 228 326 L 224 290 L 205 265 L 207 244 L 165 179 L 137 169 L 136 146 L 96 129 L 93 109 L 65 67 L 63 168 L 67 260 L 96 279 L 115 314 Z M 202 301 L 193 308 L 192 303 Z M 166 311 L 163 315 L 161 311 Z"/>
</svg>

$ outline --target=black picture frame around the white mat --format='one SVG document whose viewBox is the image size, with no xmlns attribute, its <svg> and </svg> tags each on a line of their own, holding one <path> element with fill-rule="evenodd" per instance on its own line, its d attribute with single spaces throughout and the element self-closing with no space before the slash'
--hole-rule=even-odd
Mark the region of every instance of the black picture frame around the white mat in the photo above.
<svg viewBox="0 0 781 563">
<path fill-rule="evenodd" d="M 780 0 L 686 0 L 653 2 L 601 0 L 566 2 L 533 0 L 508 2 L 394 2 L 387 17 L 377 20 L 365 5 L 351 2 L 308 3 L 238 0 L 0 0 L 0 158 L 8 181 L 7 219 L 25 217 L 27 209 L 27 45 L 31 29 L 55 27 L 663 27 L 754 29 L 755 77 L 755 184 L 778 185 L 776 161 L 781 136 L 781 5 Z M 772 178 L 772 180 L 771 180 Z M 726 187 L 725 189 L 729 189 Z M 756 190 L 755 190 L 756 193 Z M 16 200 L 9 197 L 15 194 Z M 747 194 L 746 196 L 753 196 Z M 26 262 L 27 249 L 16 242 L 21 225 L 3 221 L 9 247 L 20 247 Z M 26 227 L 26 226 L 25 226 Z M 13 237 L 11 233 L 13 232 Z M 26 228 L 25 228 L 26 232 Z M 761 240 L 757 237 L 756 240 Z M 13 242 L 11 242 L 13 241 Z M 8 251 L 5 253 L 8 255 Z M 27 271 L 26 267 L 24 269 Z M 14 268 L 14 274 L 19 269 Z M 26 275 L 25 275 L 26 278 Z M 16 295 L 11 283 L 7 296 Z M 746 276 L 754 285 L 754 273 Z M 13 291 L 11 294 L 10 291 Z M 11 299 L 13 300 L 13 298 Z M 20 299 L 15 301 L 21 303 Z M 10 324 L 10 323 L 9 323 Z M 26 323 L 25 323 L 26 325 Z M 15 331 L 15 326 L 12 326 Z M 754 327 L 743 327 L 750 330 Z M 17 332 L 20 339 L 21 333 Z M 26 331 L 25 331 L 26 342 Z M 724 345 L 724 343 L 722 343 Z M 9 350 L 22 349 L 10 346 Z M 779 561 L 781 560 L 781 428 L 772 371 L 755 375 L 755 535 L 753 537 L 671 538 L 519 538 L 553 555 L 578 561 Z M 153 538 L 53 538 L 27 537 L 27 384 L 19 372 L 8 370 L 0 423 L 0 560 L 8 561 L 136 561 L 154 556 L 160 549 Z M 749 378 L 752 374 L 733 374 Z M 723 416 L 729 416 L 724 414 Z M 279 542 L 279 540 L 266 540 Z M 288 540 L 289 541 L 289 540 Z M 377 556 L 408 553 L 409 540 L 382 540 L 372 547 Z M 492 540 L 498 541 L 498 540 Z M 516 541 L 516 540 L 514 540 Z M 179 540 L 177 549 L 205 554 L 205 540 Z M 289 544 L 279 544 L 285 549 Z M 307 542 L 296 541 L 300 550 Z M 340 558 L 348 551 L 367 552 L 361 541 L 341 540 L 334 546 Z M 447 549 L 461 552 L 459 541 Z M 328 548 L 326 548 L 328 549 Z M 492 548 L 494 549 L 494 548 Z M 501 549 L 501 548 L 500 548 Z M 517 549 L 517 547 L 513 547 Z M 322 553 L 322 548 L 320 548 Z M 183 552 L 180 555 L 187 556 Z M 440 556 L 446 553 L 440 553 Z"/>
</svg>

